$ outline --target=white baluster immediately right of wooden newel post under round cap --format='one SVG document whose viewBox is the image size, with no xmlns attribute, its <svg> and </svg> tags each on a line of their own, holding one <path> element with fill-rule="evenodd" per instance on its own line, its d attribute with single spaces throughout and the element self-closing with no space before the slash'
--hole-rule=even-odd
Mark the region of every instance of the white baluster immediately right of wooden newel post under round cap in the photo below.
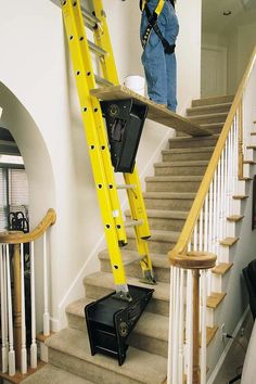
<svg viewBox="0 0 256 384">
<path fill-rule="evenodd" d="M 201 271 L 201 384 L 206 384 L 206 271 Z"/>
</svg>

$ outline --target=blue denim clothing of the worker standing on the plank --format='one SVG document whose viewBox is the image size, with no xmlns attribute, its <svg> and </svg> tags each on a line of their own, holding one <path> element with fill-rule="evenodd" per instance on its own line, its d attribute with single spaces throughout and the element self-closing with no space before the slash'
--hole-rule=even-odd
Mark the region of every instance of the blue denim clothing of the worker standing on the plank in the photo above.
<svg viewBox="0 0 256 384">
<path fill-rule="evenodd" d="M 150 0 L 148 7 L 153 13 L 158 0 Z M 149 25 L 145 12 L 142 12 L 140 37 Z M 175 44 L 179 33 L 179 23 L 175 10 L 169 1 L 165 5 L 157 18 L 157 25 L 169 44 Z M 141 56 L 148 84 L 148 93 L 151 100 L 157 104 L 166 104 L 169 110 L 177 107 L 177 68 L 175 53 L 167 54 L 163 43 L 152 29 L 150 39 Z"/>
</svg>

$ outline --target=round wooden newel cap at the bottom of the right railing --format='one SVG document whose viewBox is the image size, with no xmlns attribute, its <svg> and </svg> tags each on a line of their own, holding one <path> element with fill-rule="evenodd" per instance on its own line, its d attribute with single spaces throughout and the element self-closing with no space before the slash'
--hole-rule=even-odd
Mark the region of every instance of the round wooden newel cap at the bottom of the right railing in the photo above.
<svg viewBox="0 0 256 384">
<path fill-rule="evenodd" d="M 191 251 L 184 255 L 170 255 L 170 265 L 183 269 L 210 269 L 215 267 L 217 256 L 209 252 Z"/>
</svg>

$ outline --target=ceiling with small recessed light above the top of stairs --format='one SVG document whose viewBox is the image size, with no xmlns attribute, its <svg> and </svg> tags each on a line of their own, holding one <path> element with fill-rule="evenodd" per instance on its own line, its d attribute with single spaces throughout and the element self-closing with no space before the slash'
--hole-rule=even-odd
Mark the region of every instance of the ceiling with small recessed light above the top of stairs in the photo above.
<svg viewBox="0 0 256 384">
<path fill-rule="evenodd" d="M 231 11 L 228 16 L 223 12 Z M 203 33 L 221 33 L 256 21 L 256 0 L 202 0 Z"/>
</svg>

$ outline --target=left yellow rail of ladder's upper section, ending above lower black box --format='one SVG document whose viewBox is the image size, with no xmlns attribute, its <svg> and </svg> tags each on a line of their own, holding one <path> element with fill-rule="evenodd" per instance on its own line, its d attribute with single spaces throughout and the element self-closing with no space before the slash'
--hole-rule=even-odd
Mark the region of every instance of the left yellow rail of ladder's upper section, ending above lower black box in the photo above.
<svg viewBox="0 0 256 384">
<path fill-rule="evenodd" d="M 68 5 L 68 4 L 67 4 Z M 72 42 L 76 41 L 69 41 L 69 48 L 74 49 L 73 52 L 73 63 L 77 68 L 82 67 L 82 72 L 74 67 L 75 75 L 76 75 L 76 84 L 77 84 L 77 90 L 78 90 L 78 95 L 80 99 L 80 104 L 82 108 L 82 118 L 85 117 L 87 121 L 84 121 L 85 130 L 87 131 L 87 137 L 89 136 L 90 131 L 95 132 L 98 136 L 98 146 L 94 148 L 95 151 L 100 151 L 100 155 L 102 157 L 102 169 L 104 168 L 104 174 L 106 178 L 106 183 L 108 188 L 108 195 L 112 204 L 112 212 L 113 212 L 113 217 L 115 220 L 115 228 L 117 231 L 118 235 L 118 241 L 120 244 L 126 244 L 127 243 L 127 238 L 126 238 L 126 232 L 125 232 L 125 227 L 124 227 L 124 220 L 123 220 L 123 215 L 119 206 L 119 200 L 118 200 L 118 194 L 117 194 L 117 189 L 116 189 L 116 183 L 115 183 L 115 177 L 114 177 L 114 171 L 111 163 L 111 156 L 110 156 L 110 151 L 108 151 L 108 142 L 107 142 L 107 137 L 106 137 L 106 131 L 104 127 L 104 121 L 102 118 L 102 113 L 101 113 L 101 106 L 97 98 L 93 98 L 90 95 L 90 89 L 95 88 L 95 78 L 93 74 L 93 66 L 91 62 L 91 56 L 90 56 L 90 51 L 89 51 L 89 44 L 88 44 L 88 39 L 87 39 L 87 34 L 86 29 L 84 26 L 84 21 L 82 21 L 82 14 L 81 14 L 81 8 L 79 7 L 79 1 L 76 2 L 76 5 L 74 3 L 69 3 L 69 12 L 72 14 L 73 18 L 73 28 L 76 34 L 74 34 L 74 37 L 76 36 L 76 41 L 78 42 L 77 49 L 74 47 L 75 44 L 72 44 Z M 71 35 L 73 36 L 73 35 Z M 72 47 L 73 46 L 73 47 Z M 76 52 L 80 52 L 80 57 L 77 57 Z M 77 76 L 77 73 L 79 72 L 79 75 Z M 85 102 L 84 102 L 85 101 Z M 88 105 L 90 107 L 88 107 Z M 86 111 L 85 107 L 87 107 Z M 89 111 L 90 110 L 90 111 Z M 87 117 L 88 115 L 88 117 Z M 93 116 L 92 116 L 93 115 Z M 90 129 L 87 129 L 87 127 L 90 127 Z M 90 139 L 88 137 L 88 144 L 90 145 Z M 91 144 L 90 146 L 92 146 Z"/>
</svg>

